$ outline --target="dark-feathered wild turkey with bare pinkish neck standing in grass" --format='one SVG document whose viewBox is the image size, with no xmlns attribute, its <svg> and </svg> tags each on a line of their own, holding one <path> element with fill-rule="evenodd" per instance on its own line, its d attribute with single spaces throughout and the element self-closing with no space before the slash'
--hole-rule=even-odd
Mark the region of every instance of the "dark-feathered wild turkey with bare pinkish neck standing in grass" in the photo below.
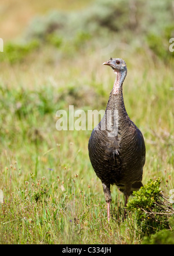
<svg viewBox="0 0 174 256">
<path fill-rule="evenodd" d="M 124 105 L 122 84 L 127 74 L 125 61 L 110 58 L 103 65 L 111 66 L 117 76 L 104 116 L 89 138 L 88 150 L 93 169 L 103 184 L 109 221 L 110 185 L 116 184 L 125 194 L 126 206 L 132 191 L 143 186 L 146 148 L 141 131 L 129 118 Z"/>
</svg>

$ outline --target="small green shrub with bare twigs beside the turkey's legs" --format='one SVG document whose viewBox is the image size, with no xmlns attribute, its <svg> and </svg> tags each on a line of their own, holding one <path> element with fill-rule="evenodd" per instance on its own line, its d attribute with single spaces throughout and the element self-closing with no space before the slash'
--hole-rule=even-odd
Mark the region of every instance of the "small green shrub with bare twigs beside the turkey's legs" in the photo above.
<svg viewBox="0 0 174 256">
<path fill-rule="evenodd" d="M 127 210 L 133 215 L 143 235 L 169 228 L 169 216 L 174 215 L 172 204 L 166 200 L 161 191 L 161 179 L 148 180 L 134 197 L 129 200 Z"/>
</svg>

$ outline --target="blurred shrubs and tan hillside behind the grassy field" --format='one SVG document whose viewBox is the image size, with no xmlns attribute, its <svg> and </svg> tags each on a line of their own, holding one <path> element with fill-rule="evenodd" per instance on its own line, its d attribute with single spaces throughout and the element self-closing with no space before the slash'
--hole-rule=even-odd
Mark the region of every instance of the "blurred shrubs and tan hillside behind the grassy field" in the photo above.
<svg viewBox="0 0 174 256">
<path fill-rule="evenodd" d="M 97 49 L 102 55 L 134 51 L 166 61 L 172 56 L 168 48 L 174 36 L 173 6 L 170 0 L 1 1 L 1 38 L 5 52 L 10 51 L 9 41 L 19 48 L 23 44 L 16 49 L 18 57 L 6 56 L 10 62 L 44 46 L 55 47 L 56 57 L 60 52 L 77 55 Z"/>
</svg>

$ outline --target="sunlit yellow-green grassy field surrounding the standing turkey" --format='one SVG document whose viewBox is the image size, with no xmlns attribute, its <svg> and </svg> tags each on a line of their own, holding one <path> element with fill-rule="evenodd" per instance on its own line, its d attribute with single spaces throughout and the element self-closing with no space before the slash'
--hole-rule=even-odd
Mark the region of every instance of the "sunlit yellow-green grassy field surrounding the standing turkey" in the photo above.
<svg viewBox="0 0 174 256">
<path fill-rule="evenodd" d="M 143 47 L 136 54 L 119 40 L 107 45 L 88 41 L 73 54 L 70 46 L 42 45 L 23 61 L 1 63 L 1 244 L 142 243 L 131 215 L 122 220 L 116 187 L 107 222 L 102 183 L 88 157 L 91 131 L 56 130 L 59 109 L 106 108 L 115 75 L 102 63 L 110 55 L 128 66 L 124 99 L 146 143 L 143 183 L 161 177 L 164 194 L 173 189 L 173 62 Z"/>
</svg>

